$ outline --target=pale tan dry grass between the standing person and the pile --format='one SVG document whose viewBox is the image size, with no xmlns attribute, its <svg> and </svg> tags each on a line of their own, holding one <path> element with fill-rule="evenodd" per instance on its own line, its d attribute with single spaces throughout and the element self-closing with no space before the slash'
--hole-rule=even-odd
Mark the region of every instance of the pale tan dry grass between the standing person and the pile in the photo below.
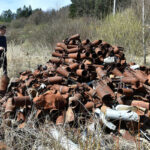
<svg viewBox="0 0 150 150">
<path fill-rule="evenodd" d="M 34 70 L 37 65 L 45 64 L 51 57 L 51 49 L 39 44 L 33 47 L 9 43 L 7 52 L 9 77 L 16 77 L 19 72 Z"/>
</svg>

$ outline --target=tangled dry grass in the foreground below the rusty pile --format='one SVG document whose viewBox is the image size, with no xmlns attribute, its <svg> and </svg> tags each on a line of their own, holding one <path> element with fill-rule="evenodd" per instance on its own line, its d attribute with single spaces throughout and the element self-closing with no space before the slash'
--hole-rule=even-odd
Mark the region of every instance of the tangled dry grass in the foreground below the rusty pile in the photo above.
<svg viewBox="0 0 150 150">
<path fill-rule="evenodd" d="M 67 142 L 69 140 L 74 142 L 80 150 L 137 150 L 139 149 L 139 143 L 126 141 L 122 138 L 113 138 L 112 134 L 105 134 L 103 128 L 97 125 L 96 130 L 90 131 L 86 129 L 86 126 L 81 125 L 78 129 L 70 128 L 67 124 L 63 126 L 55 126 L 49 122 L 47 118 L 44 124 L 40 124 L 37 120 L 33 119 L 34 110 L 28 118 L 26 126 L 22 129 L 17 127 L 17 121 L 11 120 L 11 124 L 6 124 L 3 122 L 1 127 L 1 132 L 3 132 L 4 143 L 12 150 L 64 150 L 63 144 L 65 143 L 65 138 Z M 2 113 L 0 114 L 2 116 Z M 7 120 L 8 122 L 8 120 Z M 95 122 L 97 122 L 95 120 Z M 38 128 L 36 124 L 39 124 Z M 52 130 L 56 129 L 61 133 L 58 137 L 58 141 L 55 140 L 56 137 L 52 134 Z M 83 140 L 82 135 L 86 131 L 86 139 Z M 63 143 L 64 142 L 64 143 Z M 119 145 L 118 145 L 119 142 Z M 69 144 L 66 143 L 66 150 L 72 150 Z M 140 149 L 149 150 L 150 144 L 144 140 L 140 139 Z"/>
</svg>

